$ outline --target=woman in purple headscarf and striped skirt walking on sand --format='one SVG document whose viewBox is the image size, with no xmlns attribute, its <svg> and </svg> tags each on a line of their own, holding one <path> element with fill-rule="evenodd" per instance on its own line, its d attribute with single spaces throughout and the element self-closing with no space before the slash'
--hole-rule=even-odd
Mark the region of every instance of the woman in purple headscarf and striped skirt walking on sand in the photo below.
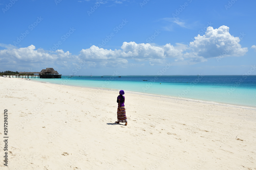
<svg viewBox="0 0 256 170">
<path fill-rule="evenodd" d="M 127 125 L 127 117 L 125 114 L 124 108 L 124 90 L 119 91 L 119 96 L 117 97 L 118 109 L 117 109 L 117 121 L 115 123 L 125 122 L 125 126 Z"/>
</svg>

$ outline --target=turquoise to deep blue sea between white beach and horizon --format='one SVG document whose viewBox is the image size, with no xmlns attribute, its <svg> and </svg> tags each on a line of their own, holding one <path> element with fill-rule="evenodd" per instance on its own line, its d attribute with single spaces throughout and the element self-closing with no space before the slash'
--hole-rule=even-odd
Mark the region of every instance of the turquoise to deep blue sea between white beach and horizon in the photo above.
<svg viewBox="0 0 256 170">
<path fill-rule="evenodd" d="M 256 75 L 68 77 L 70 76 L 62 76 L 63 79 L 31 80 L 256 107 Z"/>
</svg>

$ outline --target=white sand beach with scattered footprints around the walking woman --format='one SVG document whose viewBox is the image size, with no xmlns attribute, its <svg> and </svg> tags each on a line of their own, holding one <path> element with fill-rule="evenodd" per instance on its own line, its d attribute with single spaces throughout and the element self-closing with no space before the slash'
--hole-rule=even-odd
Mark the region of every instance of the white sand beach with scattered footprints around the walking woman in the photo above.
<svg viewBox="0 0 256 170">
<path fill-rule="evenodd" d="M 0 77 L 0 169 L 256 169 L 255 109 L 119 90 Z"/>
</svg>

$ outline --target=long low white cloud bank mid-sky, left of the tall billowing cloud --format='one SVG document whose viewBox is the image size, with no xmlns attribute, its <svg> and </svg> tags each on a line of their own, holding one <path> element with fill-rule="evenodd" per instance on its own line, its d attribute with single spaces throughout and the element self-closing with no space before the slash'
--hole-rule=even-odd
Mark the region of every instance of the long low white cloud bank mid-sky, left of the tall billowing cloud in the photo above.
<svg viewBox="0 0 256 170">
<path fill-rule="evenodd" d="M 82 49 L 78 55 L 80 60 L 96 62 L 102 66 L 113 66 L 115 64 L 128 64 L 128 60 L 134 59 L 136 62 L 150 62 L 150 65 L 164 63 L 167 58 L 183 59 L 182 49 L 176 49 L 171 44 L 164 46 L 154 46 L 151 44 L 137 44 L 135 42 L 124 42 L 121 49 L 103 49 L 91 46 Z"/>
</svg>

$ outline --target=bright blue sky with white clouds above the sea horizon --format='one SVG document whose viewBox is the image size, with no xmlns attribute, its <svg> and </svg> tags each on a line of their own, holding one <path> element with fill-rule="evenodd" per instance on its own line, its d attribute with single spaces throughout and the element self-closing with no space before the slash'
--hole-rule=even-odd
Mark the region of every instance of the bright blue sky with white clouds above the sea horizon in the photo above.
<svg viewBox="0 0 256 170">
<path fill-rule="evenodd" d="M 62 75 L 255 75 L 250 72 L 256 64 L 255 5 L 0 0 L 0 71 L 52 67 Z"/>
</svg>

